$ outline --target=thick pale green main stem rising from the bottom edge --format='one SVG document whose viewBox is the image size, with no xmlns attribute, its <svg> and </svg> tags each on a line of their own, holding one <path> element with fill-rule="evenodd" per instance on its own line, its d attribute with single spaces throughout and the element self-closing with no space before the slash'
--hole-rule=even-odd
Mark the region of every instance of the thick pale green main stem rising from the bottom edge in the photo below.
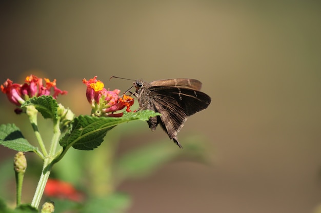
<svg viewBox="0 0 321 213">
<path fill-rule="evenodd" d="M 34 197 L 31 202 L 31 206 L 38 208 L 39 203 L 41 201 L 41 198 L 44 194 L 45 186 L 48 181 L 50 171 L 51 171 L 51 162 L 54 159 L 56 147 L 59 141 L 59 136 L 61 135 L 60 129 L 59 129 L 59 119 L 53 121 L 53 137 L 51 140 L 49 155 L 46 156 L 43 166 L 43 171 L 41 173 L 36 192 L 34 193 Z M 48 167 L 51 165 L 50 167 Z"/>
</svg>

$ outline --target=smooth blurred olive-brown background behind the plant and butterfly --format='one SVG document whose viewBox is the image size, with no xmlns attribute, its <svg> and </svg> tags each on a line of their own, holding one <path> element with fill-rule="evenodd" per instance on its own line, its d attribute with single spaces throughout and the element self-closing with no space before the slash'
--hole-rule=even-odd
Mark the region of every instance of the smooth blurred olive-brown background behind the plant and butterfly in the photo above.
<svg viewBox="0 0 321 213">
<path fill-rule="evenodd" d="M 133 197 L 129 212 L 313 212 L 321 203 L 320 6 L 3 1 L 0 81 L 55 78 L 69 91 L 59 102 L 79 115 L 90 112 L 83 78 L 123 91 L 132 82 L 110 76 L 198 79 L 212 103 L 179 138 L 184 146 L 191 132 L 203 135 L 210 163 L 180 159 L 123 183 L 118 190 Z M 0 100 L 0 123 L 22 124 L 4 94 Z M 121 137 L 121 151 L 168 139 L 142 128 Z M 168 146 L 177 149 L 169 139 Z M 0 154 L 4 161 L 14 152 Z"/>
</svg>

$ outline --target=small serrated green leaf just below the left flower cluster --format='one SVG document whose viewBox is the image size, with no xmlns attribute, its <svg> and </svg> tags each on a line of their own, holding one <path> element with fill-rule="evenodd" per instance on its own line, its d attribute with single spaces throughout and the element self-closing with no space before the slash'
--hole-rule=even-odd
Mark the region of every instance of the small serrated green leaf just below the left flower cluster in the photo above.
<svg viewBox="0 0 321 213">
<path fill-rule="evenodd" d="M 27 100 L 21 107 L 34 106 L 45 119 L 56 119 L 58 104 L 52 96 L 34 97 Z"/>
</svg>

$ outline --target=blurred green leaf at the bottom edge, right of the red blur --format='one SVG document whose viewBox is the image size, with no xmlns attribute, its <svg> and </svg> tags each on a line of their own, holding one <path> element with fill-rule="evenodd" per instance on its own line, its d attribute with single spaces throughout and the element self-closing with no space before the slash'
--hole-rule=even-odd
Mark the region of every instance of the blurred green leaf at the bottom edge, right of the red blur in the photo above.
<svg viewBox="0 0 321 213">
<path fill-rule="evenodd" d="M 114 193 L 106 197 L 99 197 L 89 200 L 82 213 L 122 213 L 129 208 L 131 198 L 127 194 Z"/>
</svg>

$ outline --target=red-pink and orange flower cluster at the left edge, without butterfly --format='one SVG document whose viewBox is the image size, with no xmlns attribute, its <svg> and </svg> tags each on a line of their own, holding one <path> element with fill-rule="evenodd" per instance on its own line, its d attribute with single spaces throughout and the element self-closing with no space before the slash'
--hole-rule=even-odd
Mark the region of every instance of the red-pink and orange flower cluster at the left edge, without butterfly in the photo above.
<svg viewBox="0 0 321 213">
<path fill-rule="evenodd" d="M 7 94 L 7 97 L 11 103 L 16 106 L 21 106 L 26 100 L 39 96 L 50 96 L 51 88 L 53 88 L 52 97 L 57 98 L 58 94 L 66 94 L 67 91 L 63 91 L 56 87 L 56 79 L 50 82 L 47 78 L 38 78 L 34 75 L 27 76 L 24 84 L 13 83 L 10 79 L 1 85 L 1 91 Z M 16 111 L 22 112 L 22 111 Z"/>
</svg>

